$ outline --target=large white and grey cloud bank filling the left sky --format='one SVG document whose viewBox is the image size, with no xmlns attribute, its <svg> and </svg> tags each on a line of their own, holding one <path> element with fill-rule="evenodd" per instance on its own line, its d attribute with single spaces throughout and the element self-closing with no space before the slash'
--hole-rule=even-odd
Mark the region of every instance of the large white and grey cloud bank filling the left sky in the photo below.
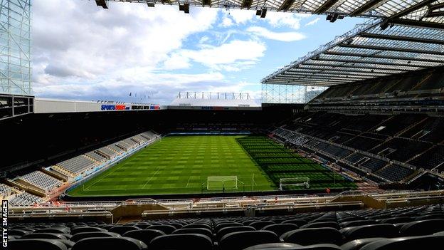
<svg viewBox="0 0 444 250">
<path fill-rule="evenodd" d="M 94 80 L 134 65 L 156 68 L 168 53 L 181 48 L 187 36 L 211 28 L 218 12 L 196 9 L 186 15 L 175 6 L 157 6 L 152 11 L 143 4 L 110 7 L 100 9 L 93 1 L 77 0 L 33 4 L 36 85 L 62 79 Z"/>
</svg>

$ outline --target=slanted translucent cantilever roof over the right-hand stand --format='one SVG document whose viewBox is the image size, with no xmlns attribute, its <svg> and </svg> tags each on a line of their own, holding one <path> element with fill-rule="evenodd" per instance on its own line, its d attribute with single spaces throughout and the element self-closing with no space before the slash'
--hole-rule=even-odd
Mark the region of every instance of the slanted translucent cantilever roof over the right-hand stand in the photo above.
<svg viewBox="0 0 444 250">
<path fill-rule="evenodd" d="M 330 86 L 444 64 L 444 29 L 370 20 L 261 83 Z"/>
</svg>

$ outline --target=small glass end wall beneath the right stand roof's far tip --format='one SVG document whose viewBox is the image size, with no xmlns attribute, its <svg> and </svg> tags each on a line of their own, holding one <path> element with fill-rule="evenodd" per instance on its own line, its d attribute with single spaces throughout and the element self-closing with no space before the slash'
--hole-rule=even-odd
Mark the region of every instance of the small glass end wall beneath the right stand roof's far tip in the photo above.
<svg viewBox="0 0 444 250">
<path fill-rule="evenodd" d="M 262 84 L 262 103 L 308 103 L 328 87 Z"/>
</svg>

